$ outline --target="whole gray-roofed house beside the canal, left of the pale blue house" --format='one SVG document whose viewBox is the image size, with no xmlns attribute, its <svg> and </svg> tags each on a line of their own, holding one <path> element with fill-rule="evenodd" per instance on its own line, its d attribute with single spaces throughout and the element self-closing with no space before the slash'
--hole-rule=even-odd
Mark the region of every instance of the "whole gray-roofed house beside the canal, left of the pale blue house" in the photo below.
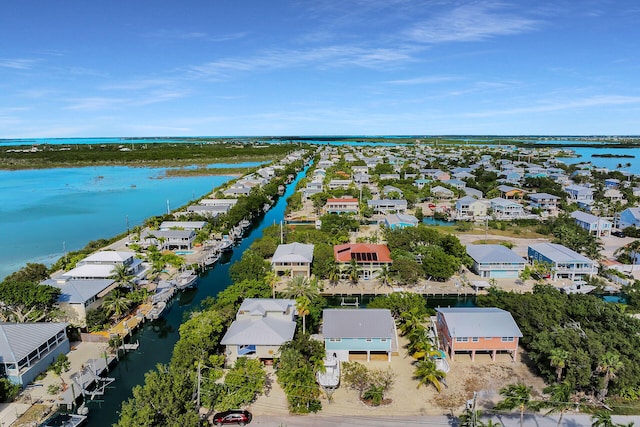
<svg viewBox="0 0 640 427">
<path fill-rule="evenodd" d="M 226 365 L 239 357 L 272 361 L 280 346 L 293 339 L 296 315 L 295 300 L 246 298 L 220 341 Z"/>
</svg>

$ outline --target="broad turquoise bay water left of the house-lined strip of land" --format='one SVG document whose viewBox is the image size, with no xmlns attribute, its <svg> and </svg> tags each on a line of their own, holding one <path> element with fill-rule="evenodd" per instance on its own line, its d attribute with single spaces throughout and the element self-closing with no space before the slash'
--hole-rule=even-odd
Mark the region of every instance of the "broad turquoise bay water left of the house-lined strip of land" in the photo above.
<svg viewBox="0 0 640 427">
<path fill-rule="evenodd" d="M 164 171 L 120 166 L 0 171 L 0 278 L 27 262 L 50 265 L 65 251 L 124 233 L 127 226 L 165 213 L 167 205 L 175 210 L 232 178 L 166 178 Z"/>
</svg>

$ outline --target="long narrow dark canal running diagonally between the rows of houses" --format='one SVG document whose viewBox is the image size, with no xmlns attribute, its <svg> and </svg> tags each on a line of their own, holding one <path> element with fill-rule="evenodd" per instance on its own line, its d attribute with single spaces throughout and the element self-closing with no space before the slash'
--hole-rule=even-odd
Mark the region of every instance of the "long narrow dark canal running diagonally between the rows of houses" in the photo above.
<svg viewBox="0 0 640 427">
<path fill-rule="evenodd" d="M 179 338 L 178 328 L 185 317 L 190 311 L 197 310 L 203 299 L 216 296 L 231 284 L 229 266 L 242 257 L 244 250 L 262 235 L 265 227 L 277 224 L 284 218 L 286 199 L 293 194 L 298 180 L 304 177 L 306 171 L 307 168 L 298 173 L 295 180 L 287 186 L 284 195 L 253 224 L 248 235 L 234 248 L 230 257 L 223 257 L 213 269 L 204 274 L 197 288 L 179 294 L 165 311 L 163 318 L 146 323 L 133 335 L 132 341 L 139 341 L 140 347 L 137 351 L 122 357 L 108 374 L 116 381 L 113 383 L 114 387 L 107 390 L 102 400 L 89 401 L 88 425 L 102 427 L 117 422 L 122 402 L 132 396 L 133 387 L 144 383 L 144 374 L 158 363 L 169 362 L 173 346 Z"/>
</svg>

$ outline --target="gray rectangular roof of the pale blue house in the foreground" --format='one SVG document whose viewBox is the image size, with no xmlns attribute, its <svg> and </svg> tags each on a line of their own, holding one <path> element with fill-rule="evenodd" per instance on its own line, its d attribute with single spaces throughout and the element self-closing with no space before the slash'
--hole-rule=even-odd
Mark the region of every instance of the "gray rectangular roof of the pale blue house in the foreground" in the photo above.
<svg viewBox="0 0 640 427">
<path fill-rule="evenodd" d="M 325 338 L 393 338 L 391 311 L 382 308 L 327 308 L 322 310 Z"/>
</svg>

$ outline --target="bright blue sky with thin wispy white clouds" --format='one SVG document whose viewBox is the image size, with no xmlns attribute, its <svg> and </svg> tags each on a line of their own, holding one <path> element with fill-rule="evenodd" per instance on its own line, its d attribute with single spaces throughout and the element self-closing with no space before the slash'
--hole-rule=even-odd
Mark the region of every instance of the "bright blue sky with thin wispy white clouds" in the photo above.
<svg viewBox="0 0 640 427">
<path fill-rule="evenodd" d="M 0 2 L 0 138 L 640 134 L 636 0 Z"/>
</svg>

